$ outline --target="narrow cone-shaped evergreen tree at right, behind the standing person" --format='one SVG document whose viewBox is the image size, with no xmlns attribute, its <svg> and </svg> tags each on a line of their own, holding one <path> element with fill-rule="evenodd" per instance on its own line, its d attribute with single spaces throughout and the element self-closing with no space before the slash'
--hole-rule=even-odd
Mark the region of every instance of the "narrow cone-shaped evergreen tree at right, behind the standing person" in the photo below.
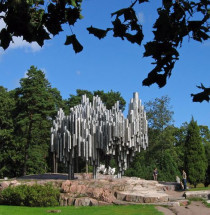
<svg viewBox="0 0 210 215">
<path fill-rule="evenodd" d="M 193 118 L 187 128 L 184 150 L 184 168 L 188 176 L 188 181 L 196 187 L 198 183 L 204 181 L 207 161 L 200 136 L 200 129 Z"/>
</svg>

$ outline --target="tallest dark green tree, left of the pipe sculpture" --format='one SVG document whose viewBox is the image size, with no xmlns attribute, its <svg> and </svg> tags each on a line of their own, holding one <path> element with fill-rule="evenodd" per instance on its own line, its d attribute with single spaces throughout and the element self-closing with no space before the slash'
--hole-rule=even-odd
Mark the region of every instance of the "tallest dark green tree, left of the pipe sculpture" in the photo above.
<svg viewBox="0 0 210 215">
<path fill-rule="evenodd" d="M 45 74 L 31 66 L 27 77 L 20 80 L 16 89 L 15 134 L 21 145 L 22 174 L 46 172 L 49 153 L 51 119 L 57 107 L 53 90 Z"/>
</svg>

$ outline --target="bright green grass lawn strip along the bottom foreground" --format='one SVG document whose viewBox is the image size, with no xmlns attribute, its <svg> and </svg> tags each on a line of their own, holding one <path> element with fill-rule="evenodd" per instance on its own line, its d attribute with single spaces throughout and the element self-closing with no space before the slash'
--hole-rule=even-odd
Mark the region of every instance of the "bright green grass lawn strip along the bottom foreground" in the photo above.
<svg viewBox="0 0 210 215">
<path fill-rule="evenodd" d="M 49 210 L 61 210 L 49 213 Z M 93 206 L 93 207 L 20 207 L 0 205 L 0 215 L 163 215 L 153 205 Z"/>
</svg>

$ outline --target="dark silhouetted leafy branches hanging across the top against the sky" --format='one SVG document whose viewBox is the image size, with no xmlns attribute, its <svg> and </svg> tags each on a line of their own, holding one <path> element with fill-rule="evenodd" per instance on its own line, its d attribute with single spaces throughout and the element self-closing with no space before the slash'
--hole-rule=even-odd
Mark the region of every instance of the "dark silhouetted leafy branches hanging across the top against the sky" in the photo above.
<svg viewBox="0 0 210 215">
<path fill-rule="evenodd" d="M 58 35 L 63 24 L 70 28 L 82 18 L 82 0 L 2 0 L 0 1 L 1 18 L 6 27 L 0 32 L 0 46 L 7 49 L 13 36 L 36 41 L 40 46 L 50 35 Z M 143 26 L 138 22 L 136 6 L 148 0 L 128 1 L 126 8 L 111 13 L 112 27 L 105 30 L 88 27 L 90 34 L 102 39 L 108 32 L 131 43 L 141 45 L 144 38 Z M 161 1 L 160 1 L 161 2 Z M 178 48 L 183 39 L 188 37 L 198 42 L 209 39 L 209 0 L 162 0 L 162 7 L 157 8 L 158 18 L 153 25 L 153 41 L 144 47 L 144 57 L 154 59 L 154 69 L 143 80 L 144 86 L 154 83 L 159 87 L 166 85 L 167 78 L 172 74 L 175 62 L 179 59 Z M 71 28 L 72 31 L 72 28 Z M 83 50 L 75 34 L 66 37 L 65 45 L 72 45 L 76 53 Z M 199 87 L 202 91 L 191 94 L 194 102 L 210 100 L 210 88 Z"/>
</svg>

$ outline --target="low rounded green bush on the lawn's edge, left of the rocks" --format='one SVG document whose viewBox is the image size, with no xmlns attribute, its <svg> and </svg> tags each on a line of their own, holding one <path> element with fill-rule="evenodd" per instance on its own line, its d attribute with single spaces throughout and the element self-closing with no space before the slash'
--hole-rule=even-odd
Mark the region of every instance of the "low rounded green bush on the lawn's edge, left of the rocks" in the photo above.
<svg viewBox="0 0 210 215">
<path fill-rule="evenodd" d="M 59 205 L 58 189 L 52 184 L 20 185 L 8 187 L 1 192 L 0 203 L 4 205 L 48 207 Z"/>
</svg>

